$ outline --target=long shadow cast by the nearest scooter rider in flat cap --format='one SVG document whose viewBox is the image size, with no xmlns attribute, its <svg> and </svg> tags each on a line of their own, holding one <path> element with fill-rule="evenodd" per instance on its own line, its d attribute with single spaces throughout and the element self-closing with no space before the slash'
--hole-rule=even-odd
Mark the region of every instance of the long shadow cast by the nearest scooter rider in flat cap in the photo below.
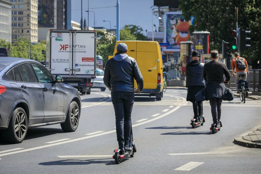
<svg viewBox="0 0 261 174">
<path fill-rule="evenodd" d="M 126 161 L 126 160 L 128 160 L 128 158 L 123 159 L 123 161 Z M 53 166 L 53 165 L 61 165 L 61 166 L 64 166 L 64 165 L 87 165 L 87 164 L 114 165 L 116 163 L 111 158 L 107 158 L 107 159 L 90 159 L 90 160 L 72 160 L 72 159 L 67 159 L 67 160 L 59 160 L 59 161 L 50 161 L 50 162 L 45 162 L 45 163 L 39 163 L 39 165 L 44 165 L 44 166 Z"/>
</svg>

